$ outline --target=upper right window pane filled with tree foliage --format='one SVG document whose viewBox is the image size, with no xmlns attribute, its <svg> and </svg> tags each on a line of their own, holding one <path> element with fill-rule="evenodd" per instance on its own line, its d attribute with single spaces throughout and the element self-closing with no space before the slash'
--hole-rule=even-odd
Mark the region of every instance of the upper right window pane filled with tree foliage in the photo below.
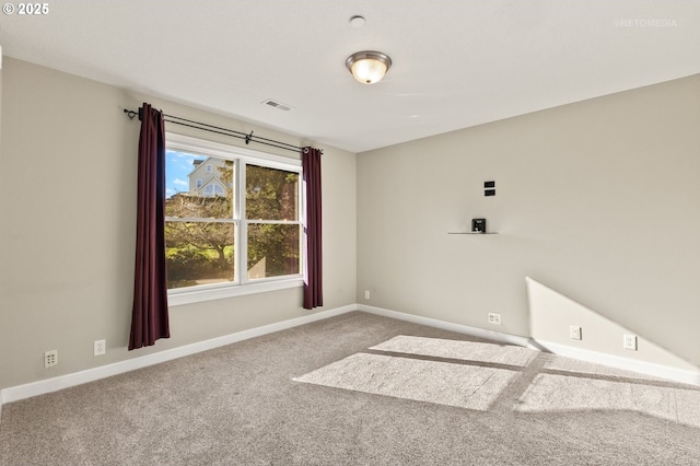
<svg viewBox="0 0 700 466">
<path fill-rule="evenodd" d="M 252 220 L 299 220 L 299 173 L 246 166 L 245 208 Z"/>
</svg>

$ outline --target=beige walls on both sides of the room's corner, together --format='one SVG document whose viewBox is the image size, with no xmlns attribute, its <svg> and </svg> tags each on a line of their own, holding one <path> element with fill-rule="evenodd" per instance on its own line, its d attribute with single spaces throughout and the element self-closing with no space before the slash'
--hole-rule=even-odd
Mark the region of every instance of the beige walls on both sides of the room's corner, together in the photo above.
<svg viewBox="0 0 700 466">
<path fill-rule="evenodd" d="M 14 59 L 2 68 L 0 388 L 307 313 L 296 289 L 176 306 L 173 338 L 127 351 L 139 124 L 122 108 L 145 101 L 313 142 Z M 357 158 L 323 147 L 319 311 L 360 302 L 700 365 L 699 89 L 696 75 Z M 8 175 L 26 164 L 31 179 Z M 497 196 L 485 198 L 491 179 Z M 500 234 L 447 235 L 474 217 Z M 503 324 L 487 324 L 487 312 Z M 582 341 L 568 338 L 570 325 L 584 327 Z M 639 351 L 621 349 L 621 331 L 640 336 Z M 95 358 L 102 338 L 107 354 Z M 47 370 L 48 349 L 59 350 L 59 365 Z"/>
</svg>

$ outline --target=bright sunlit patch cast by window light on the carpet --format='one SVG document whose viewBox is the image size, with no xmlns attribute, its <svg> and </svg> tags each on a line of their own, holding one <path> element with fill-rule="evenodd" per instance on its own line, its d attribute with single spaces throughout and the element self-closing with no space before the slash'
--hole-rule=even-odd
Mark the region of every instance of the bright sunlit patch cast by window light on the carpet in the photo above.
<svg viewBox="0 0 700 466">
<path fill-rule="evenodd" d="M 296 382 L 489 410 L 539 351 L 498 343 L 400 335 L 328 364 Z M 416 356 L 430 357 L 415 359 Z M 641 374 L 548 354 L 514 410 L 638 411 L 700 428 L 700 391 L 635 383 Z M 448 361 L 448 362 L 447 362 Z M 486 366 L 485 366 L 486 365 Z M 584 374 L 588 377 L 583 376 Z M 604 373 L 605 378 L 598 378 Z M 598 376 L 596 376 L 598 375 Z M 698 458 L 700 464 L 700 458 Z"/>
</svg>

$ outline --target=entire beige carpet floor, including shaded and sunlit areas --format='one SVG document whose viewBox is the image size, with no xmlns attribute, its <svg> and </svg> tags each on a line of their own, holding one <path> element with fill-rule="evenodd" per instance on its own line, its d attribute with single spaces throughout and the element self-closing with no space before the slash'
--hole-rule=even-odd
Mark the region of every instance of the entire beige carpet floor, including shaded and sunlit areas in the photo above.
<svg viewBox="0 0 700 466">
<path fill-rule="evenodd" d="M 7 404 L 0 465 L 687 466 L 699 407 L 695 386 L 353 312 Z"/>
</svg>

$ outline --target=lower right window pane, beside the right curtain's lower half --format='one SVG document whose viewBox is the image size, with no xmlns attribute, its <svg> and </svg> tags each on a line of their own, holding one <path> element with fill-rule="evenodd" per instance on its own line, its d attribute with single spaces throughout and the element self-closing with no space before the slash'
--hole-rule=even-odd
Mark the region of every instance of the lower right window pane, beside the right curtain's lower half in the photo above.
<svg viewBox="0 0 700 466">
<path fill-rule="evenodd" d="M 248 279 L 300 273 L 299 224 L 248 224 Z"/>
</svg>

